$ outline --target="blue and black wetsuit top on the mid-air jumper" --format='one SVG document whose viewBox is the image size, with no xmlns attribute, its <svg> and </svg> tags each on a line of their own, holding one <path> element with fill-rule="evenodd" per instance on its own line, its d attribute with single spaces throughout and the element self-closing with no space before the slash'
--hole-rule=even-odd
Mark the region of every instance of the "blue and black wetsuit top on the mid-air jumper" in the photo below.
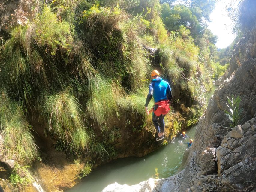
<svg viewBox="0 0 256 192">
<path fill-rule="evenodd" d="M 149 93 L 145 104 L 146 107 L 148 106 L 152 96 L 154 97 L 155 102 L 169 99 L 170 103 L 172 100 L 172 91 L 169 83 L 164 81 L 160 77 L 153 79 L 152 82 L 149 84 Z"/>
</svg>

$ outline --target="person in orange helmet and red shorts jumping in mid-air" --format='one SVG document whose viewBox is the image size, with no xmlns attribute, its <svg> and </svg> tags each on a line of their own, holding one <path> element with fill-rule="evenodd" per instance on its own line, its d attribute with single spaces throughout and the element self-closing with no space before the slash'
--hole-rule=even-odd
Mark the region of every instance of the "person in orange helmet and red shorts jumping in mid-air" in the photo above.
<svg viewBox="0 0 256 192">
<path fill-rule="evenodd" d="M 172 91 L 169 83 L 159 76 L 157 70 L 152 71 L 152 82 L 149 84 L 149 93 L 145 104 L 145 111 L 149 115 L 148 104 L 152 96 L 154 97 L 155 105 L 153 107 L 152 122 L 158 133 L 157 141 L 164 139 L 164 117 L 170 110 L 169 105 L 172 100 Z M 158 117 L 159 120 L 157 121 Z M 160 123 L 160 127 L 158 122 Z"/>
</svg>

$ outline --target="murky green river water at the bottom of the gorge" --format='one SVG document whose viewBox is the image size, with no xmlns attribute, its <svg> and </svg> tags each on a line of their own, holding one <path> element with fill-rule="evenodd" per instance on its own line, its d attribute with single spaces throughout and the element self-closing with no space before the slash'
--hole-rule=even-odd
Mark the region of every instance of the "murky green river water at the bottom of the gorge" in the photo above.
<svg viewBox="0 0 256 192">
<path fill-rule="evenodd" d="M 209 93 L 208 99 L 213 94 L 216 86 Z M 95 168 L 86 178 L 66 192 L 100 192 L 107 185 L 118 184 L 134 185 L 149 178 L 155 178 L 155 168 L 158 169 L 159 178 L 175 174 L 182 162 L 183 154 L 187 150 L 186 142 L 194 139 L 197 125 L 186 130 L 189 138 L 182 139 L 177 136 L 168 145 L 142 157 L 122 158 L 113 160 Z"/>
</svg>

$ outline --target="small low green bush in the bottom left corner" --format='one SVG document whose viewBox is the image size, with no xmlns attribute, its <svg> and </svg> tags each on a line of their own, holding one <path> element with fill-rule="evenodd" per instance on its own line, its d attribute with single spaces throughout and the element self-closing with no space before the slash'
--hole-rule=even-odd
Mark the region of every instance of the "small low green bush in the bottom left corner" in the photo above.
<svg viewBox="0 0 256 192">
<path fill-rule="evenodd" d="M 14 164 L 14 169 L 9 179 L 11 184 L 17 187 L 19 191 L 25 190 L 28 184 L 32 181 L 32 177 L 27 170 L 28 168 L 29 166 L 22 167 L 17 163 Z"/>
</svg>

